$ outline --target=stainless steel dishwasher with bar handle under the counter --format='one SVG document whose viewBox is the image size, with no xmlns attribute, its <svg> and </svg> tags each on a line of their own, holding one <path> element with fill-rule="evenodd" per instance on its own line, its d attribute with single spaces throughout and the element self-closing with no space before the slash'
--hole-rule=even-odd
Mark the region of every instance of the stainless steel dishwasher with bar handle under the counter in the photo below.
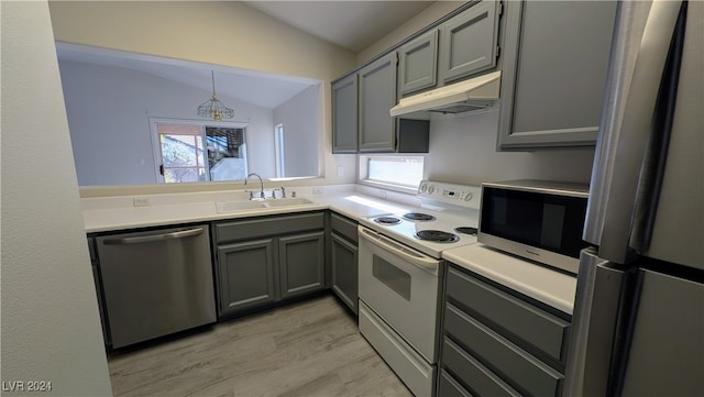
<svg viewBox="0 0 704 397">
<path fill-rule="evenodd" d="M 113 349 L 216 321 L 208 225 L 96 240 Z"/>
</svg>

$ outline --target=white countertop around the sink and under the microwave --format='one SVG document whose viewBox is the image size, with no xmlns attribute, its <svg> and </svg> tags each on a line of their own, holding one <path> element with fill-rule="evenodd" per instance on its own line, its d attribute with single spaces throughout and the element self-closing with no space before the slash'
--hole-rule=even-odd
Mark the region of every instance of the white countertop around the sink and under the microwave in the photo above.
<svg viewBox="0 0 704 397">
<path fill-rule="evenodd" d="M 257 208 L 222 212 L 217 202 L 246 200 L 242 192 L 160 195 L 150 197 L 151 206 L 133 207 L 132 197 L 112 197 L 84 200 L 84 224 L 87 233 L 109 232 L 136 228 L 208 222 L 267 214 L 295 213 L 331 209 L 349 218 L 399 213 L 413 203 L 371 197 L 351 188 L 333 189 L 324 195 L 299 195 L 311 203 Z M 518 293 L 572 315 L 576 278 L 551 271 L 514 256 L 502 254 L 483 244 L 464 245 L 447 250 L 442 257 L 475 272 Z"/>
</svg>

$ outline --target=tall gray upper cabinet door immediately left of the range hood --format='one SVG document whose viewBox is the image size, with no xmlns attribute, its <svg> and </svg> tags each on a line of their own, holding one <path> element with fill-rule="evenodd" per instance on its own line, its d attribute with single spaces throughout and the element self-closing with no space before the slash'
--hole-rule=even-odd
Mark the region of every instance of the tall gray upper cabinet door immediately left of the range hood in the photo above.
<svg viewBox="0 0 704 397">
<path fill-rule="evenodd" d="M 396 120 L 396 52 L 362 68 L 360 76 L 360 152 L 394 152 Z"/>
</svg>

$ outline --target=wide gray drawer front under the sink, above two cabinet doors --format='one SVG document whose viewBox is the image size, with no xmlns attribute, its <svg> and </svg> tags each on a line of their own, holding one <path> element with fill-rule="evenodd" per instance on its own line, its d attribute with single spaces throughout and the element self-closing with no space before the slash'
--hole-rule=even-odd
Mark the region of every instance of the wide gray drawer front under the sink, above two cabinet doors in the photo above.
<svg viewBox="0 0 704 397">
<path fill-rule="evenodd" d="M 216 223 L 216 240 L 218 243 L 257 239 L 267 235 L 283 235 L 286 233 L 320 230 L 324 228 L 322 212 L 301 213 L 285 217 L 254 218 L 242 221 Z"/>
</svg>

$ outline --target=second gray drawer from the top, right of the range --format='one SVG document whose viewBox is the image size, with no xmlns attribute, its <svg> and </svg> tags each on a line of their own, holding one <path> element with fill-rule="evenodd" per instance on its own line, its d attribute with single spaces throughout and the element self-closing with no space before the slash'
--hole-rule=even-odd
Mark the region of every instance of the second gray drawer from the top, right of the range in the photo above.
<svg viewBox="0 0 704 397">
<path fill-rule="evenodd" d="M 446 306 L 444 321 L 447 335 L 520 394 L 558 395 L 563 379 L 559 372 L 450 304 Z M 451 360 L 443 355 L 443 362 Z"/>
</svg>

